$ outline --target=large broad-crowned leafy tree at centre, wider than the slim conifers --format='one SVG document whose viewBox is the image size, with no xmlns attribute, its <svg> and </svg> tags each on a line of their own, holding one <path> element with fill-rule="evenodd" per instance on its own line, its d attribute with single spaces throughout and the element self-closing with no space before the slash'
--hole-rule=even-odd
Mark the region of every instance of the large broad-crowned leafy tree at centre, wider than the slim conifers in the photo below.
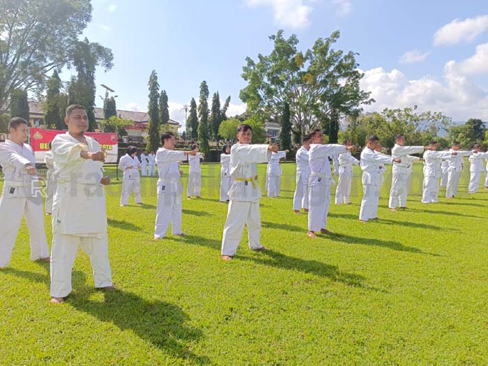
<svg viewBox="0 0 488 366">
<path fill-rule="evenodd" d="M 337 116 L 357 115 L 361 105 L 374 102 L 360 90 L 363 74 L 356 54 L 331 48 L 339 37 L 335 31 L 329 38 L 319 38 L 303 53 L 297 50 L 295 35 L 284 39 L 280 30 L 270 36 L 273 51 L 268 56 L 259 54 L 257 62 L 247 57 L 243 67 L 242 77 L 248 84 L 240 97 L 247 110 L 277 120 L 283 103 L 289 102 L 294 135 L 303 136 L 326 124 L 333 125 L 329 130 L 334 134 Z"/>
</svg>

